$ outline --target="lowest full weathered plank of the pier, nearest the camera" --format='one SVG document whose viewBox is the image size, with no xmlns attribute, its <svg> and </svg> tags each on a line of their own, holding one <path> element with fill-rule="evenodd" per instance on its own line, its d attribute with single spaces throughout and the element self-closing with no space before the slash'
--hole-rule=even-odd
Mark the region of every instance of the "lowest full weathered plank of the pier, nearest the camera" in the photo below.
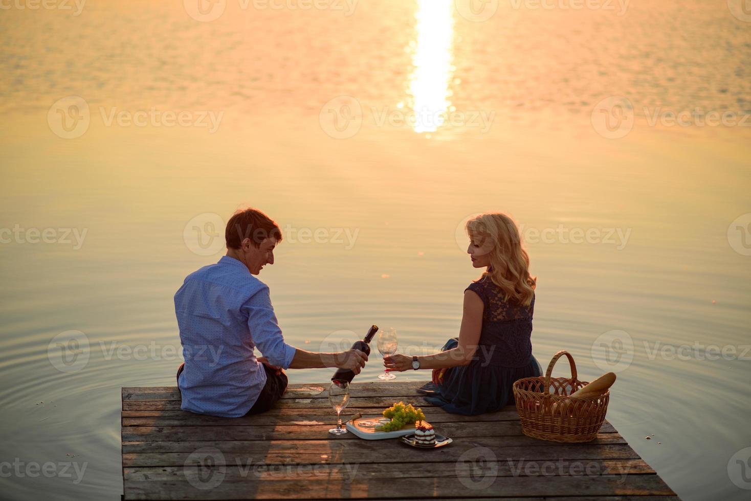
<svg viewBox="0 0 751 501">
<path fill-rule="evenodd" d="M 673 491 L 657 475 L 556 475 L 544 478 L 515 476 L 486 478 L 476 483 L 467 479 L 467 487 L 453 477 L 393 478 L 388 484 L 376 478 L 372 481 L 316 482 L 300 484 L 297 480 L 228 481 L 239 475 L 237 468 L 227 468 L 219 484 L 221 488 L 197 488 L 194 485 L 213 485 L 217 476 L 204 476 L 198 468 L 184 470 L 187 477 L 170 480 L 128 481 L 125 484 L 126 499 L 366 499 L 388 490 L 399 499 L 424 496 L 468 497 L 481 496 L 548 496 L 560 493 L 581 493 L 590 496 L 607 495 L 673 495 Z M 189 481 L 190 480 L 190 481 Z M 192 482 L 192 483 L 191 483 Z M 490 485 L 486 485 L 490 483 Z M 318 487 L 316 489 L 315 487 Z"/>
</svg>

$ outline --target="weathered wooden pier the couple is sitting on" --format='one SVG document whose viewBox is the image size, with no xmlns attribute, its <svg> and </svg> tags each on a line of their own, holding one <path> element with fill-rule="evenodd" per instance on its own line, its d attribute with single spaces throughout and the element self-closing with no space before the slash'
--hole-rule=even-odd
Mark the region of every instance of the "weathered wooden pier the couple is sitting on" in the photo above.
<svg viewBox="0 0 751 501">
<path fill-rule="evenodd" d="M 353 383 L 342 419 L 412 403 L 454 440 L 439 449 L 334 437 L 326 383 L 235 419 L 180 410 L 175 387 L 123 388 L 123 499 L 678 499 L 608 422 L 592 443 L 544 442 L 515 407 L 445 413 L 415 392 L 424 383 Z"/>
</svg>

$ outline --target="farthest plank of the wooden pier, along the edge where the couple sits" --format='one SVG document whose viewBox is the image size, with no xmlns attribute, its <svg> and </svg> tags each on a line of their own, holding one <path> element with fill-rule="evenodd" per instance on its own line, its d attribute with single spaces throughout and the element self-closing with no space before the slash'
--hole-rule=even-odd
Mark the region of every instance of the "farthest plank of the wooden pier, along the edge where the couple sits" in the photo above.
<svg viewBox="0 0 751 501">
<path fill-rule="evenodd" d="M 351 383 L 350 391 L 357 397 L 399 397 L 419 395 L 416 390 L 427 381 L 399 381 L 396 383 Z M 331 383 L 291 384 L 282 398 L 328 398 Z M 122 388 L 123 401 L 180 400 L 176 386 Z"/>
</svg>

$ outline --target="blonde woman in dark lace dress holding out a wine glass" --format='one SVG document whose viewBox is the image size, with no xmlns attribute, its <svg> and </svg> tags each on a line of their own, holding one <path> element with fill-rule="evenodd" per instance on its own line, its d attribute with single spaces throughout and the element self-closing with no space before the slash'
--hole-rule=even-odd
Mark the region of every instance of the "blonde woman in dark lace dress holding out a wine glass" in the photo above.
<svg viewBox="0 0 751 501">
<path fill-rule="evenodd" d="M 475 268 L 487 268 L 464 291 L 459 338 L 441 353 L 384 359 L 388 371 L 432 369 L 438 392 L 426 400 L 449 413 L 474 415 L 513 404 L 514 381 L 541 376 L 532 356 L 536 278 L 519 230 L 505 214 L 482 214 L 466 223 L 467 253 Z"/>
</svg>

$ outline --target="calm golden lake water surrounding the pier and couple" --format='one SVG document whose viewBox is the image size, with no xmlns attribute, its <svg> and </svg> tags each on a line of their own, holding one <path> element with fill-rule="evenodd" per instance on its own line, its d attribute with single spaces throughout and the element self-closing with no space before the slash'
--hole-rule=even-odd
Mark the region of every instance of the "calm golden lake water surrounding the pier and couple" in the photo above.
<svg viewBox="0 0 751 501">
<path fill-rule="evenodd" d="M 2 499 L 118 499 L 120 387 L 173 386 L 173 293 L 241 205 L 285 232 L 261 279 L 307 350 L 372 323 L 437 350 L 478 277 L 463 220 L 511 214 L 538 360 L 617 371 L 608 419 L 683 499 L 748 499 L 740 2 L 180 4 L 0 15 L 0 461 L 55 464 Z"/>
</svg>

